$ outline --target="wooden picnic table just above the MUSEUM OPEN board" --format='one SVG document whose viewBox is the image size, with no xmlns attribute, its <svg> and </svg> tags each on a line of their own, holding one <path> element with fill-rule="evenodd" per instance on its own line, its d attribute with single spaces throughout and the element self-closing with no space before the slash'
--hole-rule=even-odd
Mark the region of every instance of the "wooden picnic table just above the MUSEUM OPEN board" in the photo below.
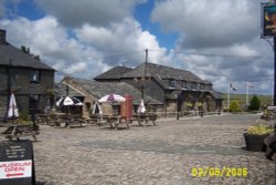
<svg viewBox="0 0 276 185">
<path fill-rule="evenodd" d="M 20 137 L 32 136 L 34 141 L 36 140 L 36 135 L 39 135 L 39 126 L 33 124 L 0 124 L 1 127 L 7 127 L 4 132 L 1 133 L 6 138 L 12 141 Z"/>
</svg>

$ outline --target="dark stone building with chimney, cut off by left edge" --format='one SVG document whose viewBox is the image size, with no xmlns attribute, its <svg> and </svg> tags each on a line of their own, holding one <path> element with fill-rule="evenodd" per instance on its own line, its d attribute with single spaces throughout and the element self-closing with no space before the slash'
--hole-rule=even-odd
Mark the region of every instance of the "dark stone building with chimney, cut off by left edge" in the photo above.
<svg viewBox="0 0 276 185">
<path fill-rule="evenodd" d="M 54 70 L 31 54 L 9 44 L 0 30 L 0 117 L 7 115 L 13 92 L 19 112 L 43 112 L 53 103 Z"/>
</svg>

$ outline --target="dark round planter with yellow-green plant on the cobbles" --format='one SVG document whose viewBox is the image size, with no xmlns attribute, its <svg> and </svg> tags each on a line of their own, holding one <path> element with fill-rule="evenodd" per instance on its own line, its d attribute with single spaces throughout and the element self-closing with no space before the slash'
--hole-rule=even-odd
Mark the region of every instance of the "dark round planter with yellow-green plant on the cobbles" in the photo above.
<svg viewBox="0 0 276 185">
<path fill-rule="evenodd" d="M 273 132 L 273 127 L 268 127 L 262 123 L 250 126 L 247 132 L 244 133 L 246 150 L 253 152 L 265 152 L 264 140 Z"/>
</svg>

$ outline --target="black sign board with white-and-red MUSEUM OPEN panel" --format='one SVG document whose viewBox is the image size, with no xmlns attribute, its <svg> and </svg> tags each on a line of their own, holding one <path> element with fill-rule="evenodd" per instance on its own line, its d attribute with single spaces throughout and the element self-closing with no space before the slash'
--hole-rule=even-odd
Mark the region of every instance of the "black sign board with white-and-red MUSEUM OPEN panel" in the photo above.
<svg viewBox="0 0 276 185">
<path fill-rule="evenodd" d="M 0 184 L 35 184 L 33 147 L 30 141 L 0 143 Z"/>
</svg>

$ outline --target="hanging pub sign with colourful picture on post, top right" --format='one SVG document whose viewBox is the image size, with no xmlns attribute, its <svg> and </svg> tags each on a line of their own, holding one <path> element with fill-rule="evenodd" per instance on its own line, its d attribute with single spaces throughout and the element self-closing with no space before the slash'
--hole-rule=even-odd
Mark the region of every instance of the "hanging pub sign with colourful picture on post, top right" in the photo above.
<svg viewBox="0 0 276 185">
<path fill-rule="evenodd" d="M 276 35 L 276 3 L 262 4 L 262 37 Z"/>
</svg>

